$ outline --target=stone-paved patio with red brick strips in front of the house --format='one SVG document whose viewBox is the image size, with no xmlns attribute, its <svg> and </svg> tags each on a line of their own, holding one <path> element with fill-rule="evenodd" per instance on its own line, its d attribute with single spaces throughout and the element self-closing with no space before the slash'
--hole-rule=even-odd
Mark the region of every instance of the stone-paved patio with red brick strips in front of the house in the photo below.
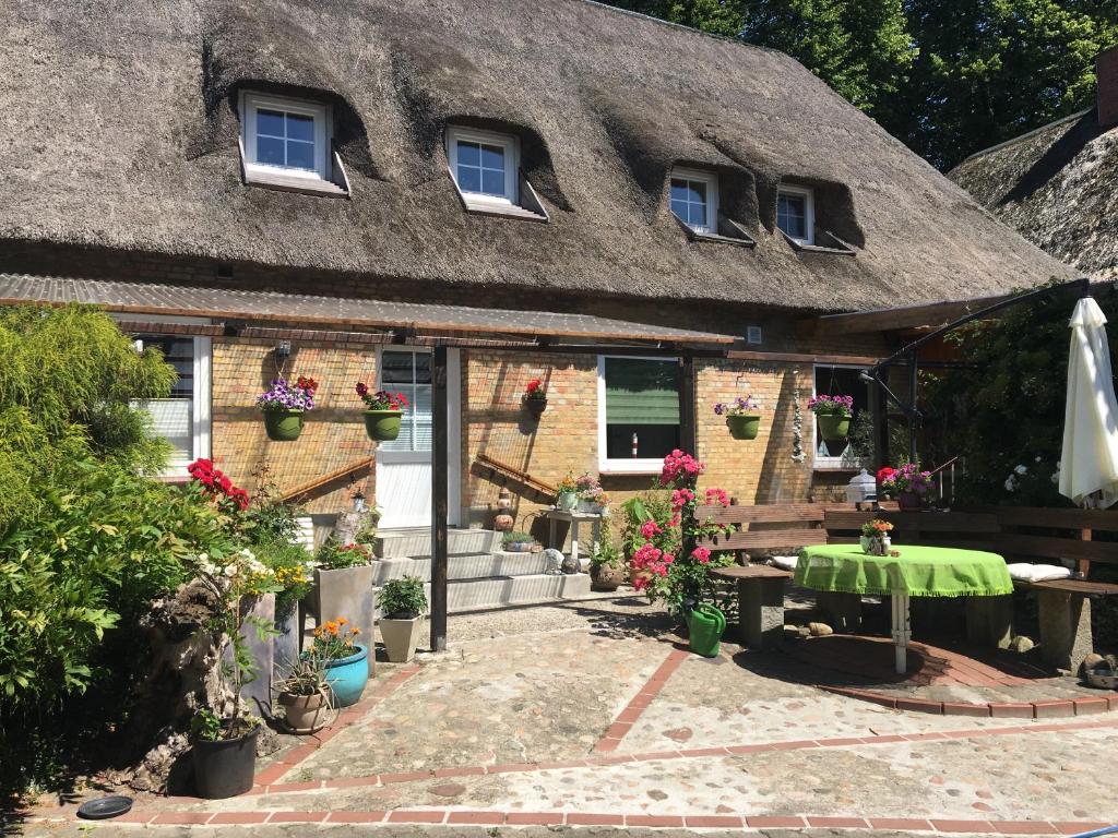
<svg viewBox="0 0 1118 838">
<path fill-rule="evenodd" d="M 632 599 L 452 618 L 448 654 L 380 666 L 321 741 L 260 760 L 253 793 L 143 798 L 93 828 L 1058 835 L 1115 816 L 1118 712 L 899 711 L 812 685 L 798 656 L 692 656 L 666 627 Z M 26 828 L 76 835 L 72 811 Z"/>
</svg>

